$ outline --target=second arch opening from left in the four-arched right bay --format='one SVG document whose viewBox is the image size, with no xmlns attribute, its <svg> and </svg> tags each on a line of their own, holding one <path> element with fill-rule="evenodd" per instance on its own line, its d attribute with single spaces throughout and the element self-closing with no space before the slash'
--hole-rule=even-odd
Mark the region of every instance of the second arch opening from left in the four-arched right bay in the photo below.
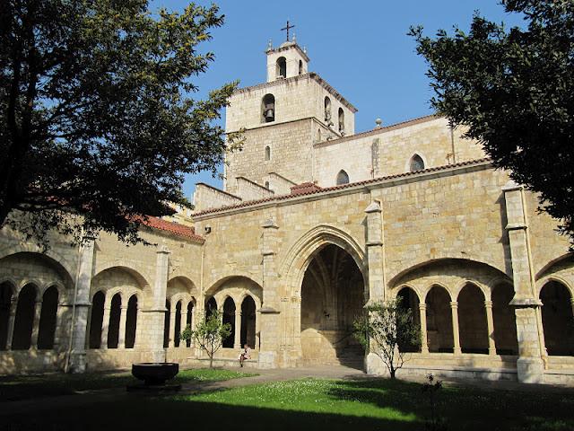
<svg viewBox="0 0 574 431">
<path fill-rule="evenodd" d="M 435 284 L 425 295 L 427 306 L 427 342 L 430 352 L 453 352 L 454 335 L 450 303 L 445 286 Z"/>
</svg>

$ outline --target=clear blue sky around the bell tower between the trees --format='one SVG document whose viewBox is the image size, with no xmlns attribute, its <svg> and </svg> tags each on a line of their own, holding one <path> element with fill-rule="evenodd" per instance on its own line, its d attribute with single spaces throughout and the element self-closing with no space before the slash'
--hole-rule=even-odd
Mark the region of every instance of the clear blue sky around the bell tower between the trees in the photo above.
<svg viewBox="0 0 574 431">
<path fill-rule="evenodd" d="M 211 4 L 198 1 L 196 4 Z M 389 125 L 431 113 L 427 67 L 414 52 L 406 35 L 411 25 L 422 25 L 426 34 L 454 25 L 467 31 L 474 11 L 495 22 L 517 25 L 497 0 L 390 0 L 378 1 L 254 1 L 220 0 L 225 24 L 213 30 L 213 40 L 202 50 L 215 53 L 206 75 L 196 79 L 198 97 L 222 84 L 239 80 L 241 87 L 265 82 L 265 47 L 285 40 L 280 31 L 289 19 L 297 42 L 311 59 L 309 71 L 317 72 L 359 110 L 355 131 L 375 127 L 375 119 Z M 152 9 L 181 11 L 185 1 L 154 0 Z M 223 113 L 224 115 L 224 113 Z M 224 118 L 224 117 L 223 117 Z M 203 181 L 222 187 L 210 172 L 189 176 L 186 196 Z"/>
</svg>

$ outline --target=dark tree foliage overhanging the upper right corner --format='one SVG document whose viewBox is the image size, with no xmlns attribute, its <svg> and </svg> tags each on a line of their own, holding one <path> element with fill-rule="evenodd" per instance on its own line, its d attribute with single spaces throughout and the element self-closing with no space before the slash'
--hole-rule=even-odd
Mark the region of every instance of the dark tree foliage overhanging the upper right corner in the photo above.
<svg viewBox="0 0 574 431">
<path fill-rule="evenodd" d="M 538 192 L 541 208 L 574 238 L 574 2 L 504 0 L 523 28 L 475 13 L 468 34 L 411 29 L 430 65 L 432 106 L 468 127 L 492 163 Z"/>
</svg>

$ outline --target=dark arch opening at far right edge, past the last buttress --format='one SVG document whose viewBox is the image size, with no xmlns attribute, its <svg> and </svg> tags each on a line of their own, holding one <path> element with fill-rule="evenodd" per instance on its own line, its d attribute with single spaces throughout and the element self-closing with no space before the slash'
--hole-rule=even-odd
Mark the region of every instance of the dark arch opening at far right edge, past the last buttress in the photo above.
<svg viewBox="0 0 574 431">
<path fill-rule="evenodd" d="M 574 315 L 569 287 L 550 279 L 540 290 L 544 344 L 550 356 L 574 356 Z"/>
</svg>

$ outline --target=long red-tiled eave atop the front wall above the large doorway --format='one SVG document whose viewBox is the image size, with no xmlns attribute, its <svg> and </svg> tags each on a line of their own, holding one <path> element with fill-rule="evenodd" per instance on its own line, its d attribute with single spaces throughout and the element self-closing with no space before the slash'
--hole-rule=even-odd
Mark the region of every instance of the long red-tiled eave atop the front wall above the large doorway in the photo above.
<svg viewBox="0 0 574 431">
<path fill-rule="evenodd" d="M 491 158 L 490 157 L 484 157 L 482 159 L 474 159 L 474 160 L 468 160 L 465 162 L 458 162 L 458 163 L 452 163 L 452 164 L 445 164 L 442 166 L 436 166 L 433 168 L 427 168 L 427 169 L 423 169 L 422 171 L 415 171 L 415 172 L 402 172 L 402 173 L 396 173 L 394 175 L 387 175 L 385 177 L 378 177 L 378 178 L 372 178 L 370 180 L 362 180 L 362 181 L 357 181 L 357 182 L 350 182 L 348 184 L 342 184 L 339 186 L 333 186 L 333 187 L 326 187 L 323 189 L 314 189 L 311 191 L 301 191 L 297 194 L 292 194 L 290 193 L 289 195 L 280 195 L 280 196 L 274 196 L 272 198 L 264 198 L 264 199 L 256 199 L 256 200 L 248 200 L 245 202 L 241 202 L 240 204 L 237 205 L 230 205 L 227 207 L 219 207 L 219 208 L 209 208 L 209 209 L 205 209 L 204 211 L 200 211 L 199 213 L 196 214 L 192 214 L 192 216 L 204 216 L 207 214 L 213 214 L 213 213 L 220 213 L 223 211 L 227 211 L 230 209 L 239 209 L 239 208 L 243 208 L 243 207 L 251 207 L 254 205 L 258 205 L 258 204 L 263 204 L 265 202 L 272 202 L 272 201 L 278 201 L 278 200 L 285 200 L 288 198 L 300 198 L 301 196 L 309 196 L 309 195 L 315 195 L 318 193 L 323 193 L 323 192 L 328 192 L 328 191 L 333 191 L 336 189 L 348 189 L 351 187 L 356 187 L 356 186 L 361 186 L 361 185 L 366 185 L 366 184 L 371 184 L 373 182 L 377 182 L 377 181 L 381 181 L 381 180 L 393 180 L 393 179 L 397 179 L 397 178 L 404 178 L 404 177 L 410 177 L 416 174 L 420 174 L 420 173 L 429 173 L 429 172 L 440 172 L 440 171 L 446 171 L 448 169 L 452 169 L 452 168 L 460 168 L 463 166 L 468 166 L 470 164 L 476 164 L 476 163 L 485 163 L 485 162 L 491 162 Z"/>
</svg>

